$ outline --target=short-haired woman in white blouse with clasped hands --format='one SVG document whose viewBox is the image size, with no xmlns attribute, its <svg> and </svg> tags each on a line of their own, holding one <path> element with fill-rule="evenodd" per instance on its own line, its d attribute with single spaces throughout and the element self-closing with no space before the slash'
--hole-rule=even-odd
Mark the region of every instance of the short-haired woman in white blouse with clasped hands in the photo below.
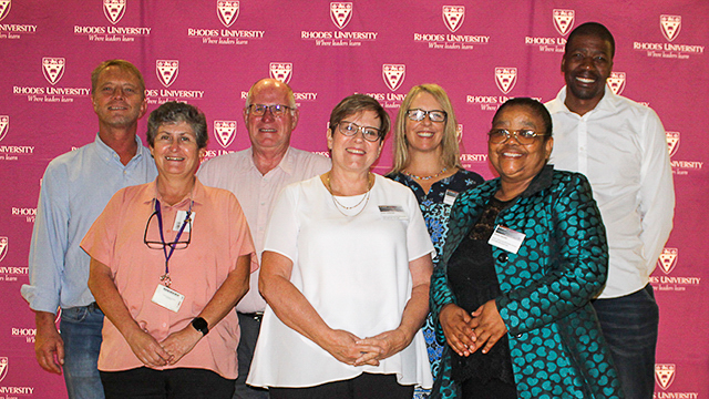
<svg viewBox="0 0 709 399">
<path fill-rule="evenodd" d="M 329 126 L 332 168 L 286 187 L 271 214 L 247 382 L 276 399 L 410 399 L 432 385 L 420 328 L 433 246 L 411 191 L 369 171 L 390 127 L 379 102 L 350 95 Z"/>
</svg>

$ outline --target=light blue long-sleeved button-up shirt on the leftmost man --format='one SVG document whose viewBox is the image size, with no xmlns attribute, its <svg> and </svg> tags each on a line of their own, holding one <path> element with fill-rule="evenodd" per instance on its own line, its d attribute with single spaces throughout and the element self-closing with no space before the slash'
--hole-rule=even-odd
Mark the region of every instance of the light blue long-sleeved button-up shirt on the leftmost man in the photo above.
<svg viewBox="0 0 709 399">
<path fill-rule="evenodd" d="M 90 257 L 79 247 L 81 239 L 113 194 L 157 176 L 150 151 L 135 141 L 137 152 L 127 165 L 96 134 L 93 143 L 47 166 L 30 245 L 30 284 L 21 288 L 33 310 L 53 314 L 58 306 L 94 301 L 88 287 Z"/>
</svg>

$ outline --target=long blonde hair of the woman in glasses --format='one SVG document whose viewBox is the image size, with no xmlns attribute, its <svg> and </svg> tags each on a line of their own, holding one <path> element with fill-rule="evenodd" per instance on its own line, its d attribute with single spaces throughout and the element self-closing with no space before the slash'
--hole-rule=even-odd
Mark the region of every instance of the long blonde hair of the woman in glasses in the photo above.
<svg viewBox="0 0 709 399">
<path fill-rule="evenodd" d="M 445 120 L 445 129 L 443 130 L 443 140 L 441 141 L 443 166 L 448 168 L 460 167 L 461 164 L 460 149 L 458 146 L 458 121 L 455 112 L 445 90 L 438 84 L 427 83 L 419 84 L 409 91 L 407 98 L 403 99 L 397 123 L 394 124 L 394 165 L 391 173 L 399 173 L 409 165 L 409 142 L 407 141 L 407 111 L 411 106 L 413 99 L 419 93 L 429 93 L 441 104 L 441 109 L 448 114 Z"/>
</svg>

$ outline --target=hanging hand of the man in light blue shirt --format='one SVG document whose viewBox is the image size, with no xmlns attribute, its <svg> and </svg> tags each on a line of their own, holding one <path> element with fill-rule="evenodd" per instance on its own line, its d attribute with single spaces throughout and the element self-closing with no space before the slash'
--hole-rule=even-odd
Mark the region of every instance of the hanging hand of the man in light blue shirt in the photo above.
<svg viewBox="0 0 709 399">
<path fill-rule="evenodd" d="M 35 320 L 34 355 L 37 362 L 44 370 L 61 375 L 62 366 L 64 366 L 64 340 L 56 330 L 54 315 L 38 311 Z"/>
</svg>

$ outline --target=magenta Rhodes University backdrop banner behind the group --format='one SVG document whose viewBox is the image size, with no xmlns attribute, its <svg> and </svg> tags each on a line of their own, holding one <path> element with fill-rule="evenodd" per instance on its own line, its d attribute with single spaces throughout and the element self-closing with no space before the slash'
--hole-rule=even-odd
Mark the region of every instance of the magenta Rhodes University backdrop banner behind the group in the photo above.
<svg viewBox="0 0 709 399">
<path fill-rule="evenodd" d="M 326 152 L 331 109 L 353 92 L 395 117 L 409 89 L 438 83 L 459 119 L 465 167 L 493 177 L 485 132 L 508 98 L 553 99 L 574 27 L 616 39 L 610 89 L 653 108 L 667 130 L 675 229 L 650 280 L 660 305 L 656 398 L 709 395 L 709 2 L 0 0 L 0 399 L 64 398 L 34 359 L 34 317 L 20 296 L 41 177 L 94 140 L 91 71 L 135 63 L 148 111 L 185 101 L 207 115 L 208 156 L 243 150 L 249 86 L 273 76 L 300 106 L 292 145 Z M 145 119 L 140 135 L 145 137 Z M 377 172 L 391 165 L 387 140 Z"/>
</svg>

